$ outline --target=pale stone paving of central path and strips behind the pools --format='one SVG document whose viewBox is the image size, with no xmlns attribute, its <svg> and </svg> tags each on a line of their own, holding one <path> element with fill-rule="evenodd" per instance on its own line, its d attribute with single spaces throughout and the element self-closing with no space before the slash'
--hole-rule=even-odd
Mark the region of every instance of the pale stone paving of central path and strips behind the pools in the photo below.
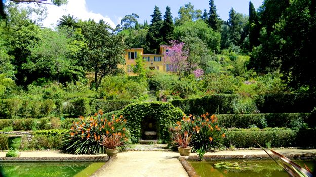
<svg viewBox="0 0 316 177">
<path fill-rule="evenodd" d="M 133 145 L 134 151 L 119 153 L 98 176 L 188 176 L 178 160 L 179 153 L 166 150 L 165 145 Z M 283 155 L 316 154 L 316 149 L 276 149 Z M 0 158 L 6 152 L 0 152 Z M 228 150 L 208 152 L 206 156 L 263 155 L 263 150 Z M 22 151 L 21 157 L 104 157 L 106 155 L 72 155 L 60 151 Z M 197 156 L 191 153 L 191 156 Z"/>
</svg>

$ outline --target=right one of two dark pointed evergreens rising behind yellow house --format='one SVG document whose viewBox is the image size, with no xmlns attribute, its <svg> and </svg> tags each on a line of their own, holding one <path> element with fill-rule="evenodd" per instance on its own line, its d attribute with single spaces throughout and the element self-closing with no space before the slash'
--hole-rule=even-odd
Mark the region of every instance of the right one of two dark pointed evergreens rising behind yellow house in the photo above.
<svg viewBox="0 0 316 177">
<path fill-rule="evenodd" d="M 171 16 L 170 7 L 166 7 L 166 13 L 164 15 L 164 22 L 161 28 L 161 34 L 163 36 L 163 42 L 168 44 L 169 41 L 173 40 L 173 29 L 174 24 Z"/>
</svg>

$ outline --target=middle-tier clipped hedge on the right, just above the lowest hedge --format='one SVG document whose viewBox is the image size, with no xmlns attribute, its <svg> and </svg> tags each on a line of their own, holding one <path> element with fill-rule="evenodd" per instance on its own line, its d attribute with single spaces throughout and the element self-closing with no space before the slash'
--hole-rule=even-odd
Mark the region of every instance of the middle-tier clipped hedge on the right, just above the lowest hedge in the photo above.
<svg viewBox="0 0 316 177">
<path fill-rule="evenodd" d="M 218 124 L 226 128 L 250 128 L 256 126 L 288 127 L 297 129 L 307 124 L 315 126 L 315 119 L 310 113 L 265 113 L 265 114 L 220 114 L 217 115 Z"/>
</svg>

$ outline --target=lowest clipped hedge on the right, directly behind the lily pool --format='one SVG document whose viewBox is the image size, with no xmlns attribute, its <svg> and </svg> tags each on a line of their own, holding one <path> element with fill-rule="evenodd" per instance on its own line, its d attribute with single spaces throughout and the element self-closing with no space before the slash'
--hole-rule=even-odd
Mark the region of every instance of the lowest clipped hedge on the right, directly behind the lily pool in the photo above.
<svg viewBox="0 0 316 177">
<path fill-rule="evenodd" d="M 224 145 L 249 148 L 259 147 L 258 144 L 266 146 L 268 143 L 271 147 L 310 147 L 316 146 L 315 138 L 315 129 L 300 131 L 283 128 L 233 129 L 226 132 Z"/>
</svg>

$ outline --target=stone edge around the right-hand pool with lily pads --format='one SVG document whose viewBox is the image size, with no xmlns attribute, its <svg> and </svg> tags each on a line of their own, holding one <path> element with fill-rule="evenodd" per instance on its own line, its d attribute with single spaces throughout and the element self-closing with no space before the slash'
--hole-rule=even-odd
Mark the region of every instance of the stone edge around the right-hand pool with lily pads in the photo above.
<svg viewBox="0 0 316 177">
<path fill-rule="evenodd" d="M 277 158 L 274 154 L 270 154 L 273 158 Z M 316 154 L 307 153 L 307 154 L 285 154 L 287 158 L 315 158 Z M 260 155 L 205 155 L 203 156 L 205 160 L 210 159 L 264 159 L 271 158 L 268 154 L 260 154 Z M 199 156 L 180 156 L 180 163 L 183 168 L 189 175 L 189 177 L 199 177 L 199 174 L 196 173 L 195 169 L 187 160 L 199 160 Z"/>
</svg>

